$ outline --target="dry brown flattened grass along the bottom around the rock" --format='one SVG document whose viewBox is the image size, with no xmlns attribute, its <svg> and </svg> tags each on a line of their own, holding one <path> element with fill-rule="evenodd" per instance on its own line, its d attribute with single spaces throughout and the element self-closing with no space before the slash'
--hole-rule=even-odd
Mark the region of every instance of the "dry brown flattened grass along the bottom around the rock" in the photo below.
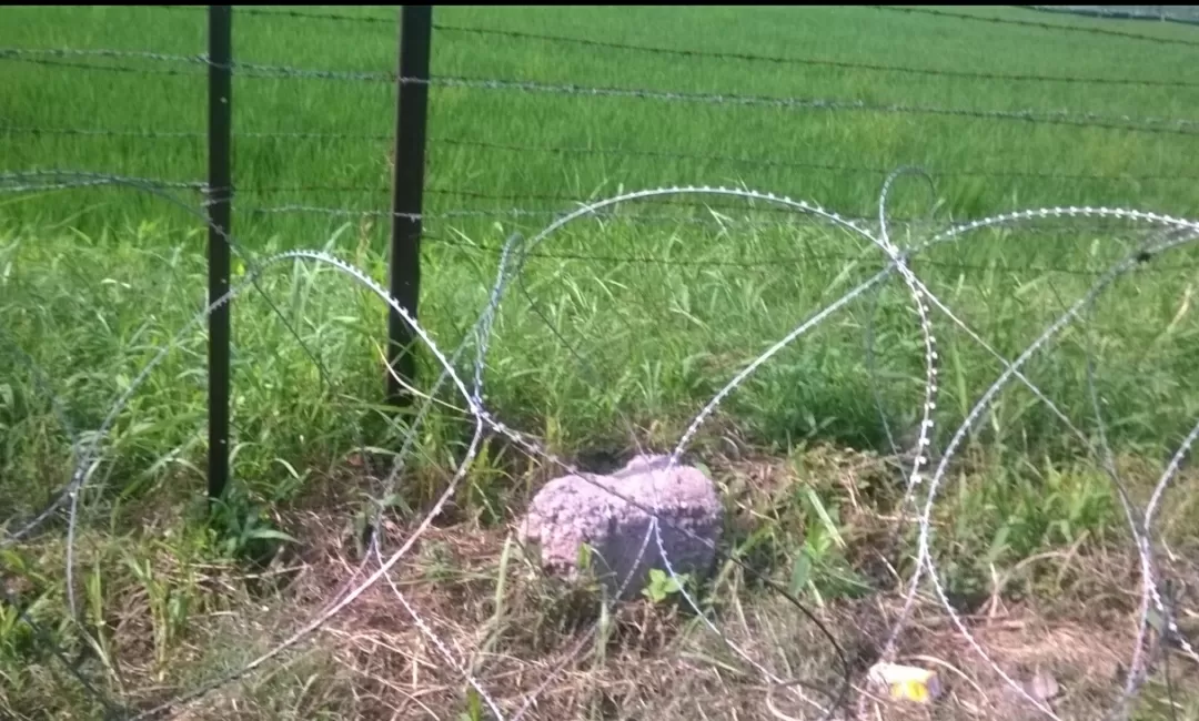
<svg viewBox="0 0 1199 721">
<path fill-rule="evenodd" d="M 887 462 L 817 449 L 799 467 L 747 455 L 713 463 L 733 510 L 734 537 L 761 525 L 796 522 L 790 497 L 797 484 L 819 484 L 826 498 L 842 502 L 845 557 L 874 592 L 829 599 L 814 608 L 849 665 L 850 685 L 836 717 L 1040 717 L 927 595 L 898 637 L 897 660 L 938 671 L 944 696 L 920 707 L 887 699 L 867 684 L 904 588 L 891 575 L 892 550 L 886 546 L 900 525 L 894 489 L 886 486 Z M 83 537 L 80 546 L 88 551 L 80 568 L 106 568 L 108 656 L 91 668 L 109 679 L 108 690 L 123 690 L 138 708 L 170 699 L 266 653 L 361 583 L 376 565 L 359 555 L 345 522 L 351 505 L 342 491 L 353 486 L 337 480 L 314 489 L 305 504 L 279 517 L 302 546 L 254 572 L 198 561 L 179 544 L 150 543 L 170 527 L 165 522 L 147 523 L 141 538 L 114 539 L 96 531 Z M 411 525 L 391 519 L 385 531 L 387 547 L 394 547 Z M 803 528 L 791 531 L 802 534 Z M 61 551 L 60 543 L 47 541 L 37 564 L 54 565 Z M 194 606 L 186 629 L 169 641 L 161 604 L 145 583 L 120 570 L 127 557 L 147 563 L 163 588 L 189 594 Z M 747 563 L 773 576 L 785 571 L 752 558 Z M 1164 553 L 1162 564 L 1173 577 L 1199 580 L 1199 562 L 1189 551 Z M 1062 719 L 1102 717 L 1119 697 L 1135 636 L 1135 556 L 1117 545 L 1092 545 L 1047 553 L 1005 572 L 1026 581 L 1012 583 L 1023 590 L 1010 594 L 1005 587 L 981 610 L 964 614 L 970 634 L 1018 683 L 1030 684 L 1038 673 L 1052 677 L 1061 691 L 1052 703 Z M 28 581 L 5 583 L 16 595 L 34 592 Z M 1056 593 L 1044 593 L 1049 586 Z M 1199 582 L 1177 594 L 1183 628 L 1197 618 L 1197 589 Z M 676 605 L 639 600 L 609 608 L 601 624 L 596 593 L 544 577 L 514 544 L 511 528 L 459 522 L 430 529 L 386 578 L 296 649 L 192 704 L 180 717 L 459 721 L 468 708 L 468 684 L 397 593 L 507 717 L 536 693 L 525 719 L 807 720 L 819 717 L 819 708 L 844 680 L 842 656 L 817 624 L 763 589 L 741 565 L 729 564 L 719 575 L 711 596 L 713 618 L 727 641 L 802 693 L 765 684 L 722 638 Z M 1164 671 L 1158 661 L 1155 672 Z M 1176 717 L 1186 719 L 1199 709 L 1199 674 L 1181 656 L 1171 660 L 1170 671 L 1173 692 L 1182 699 Z M 49 689 L 52 679 L 44 683 Z M 1139 701 L 1143 717 L 1170 717 L 1164 698 L 1159 683 L 1146 689 Z M 28 705 L 8 708 L 16 717 L 41 717 Z"/>
</svg>

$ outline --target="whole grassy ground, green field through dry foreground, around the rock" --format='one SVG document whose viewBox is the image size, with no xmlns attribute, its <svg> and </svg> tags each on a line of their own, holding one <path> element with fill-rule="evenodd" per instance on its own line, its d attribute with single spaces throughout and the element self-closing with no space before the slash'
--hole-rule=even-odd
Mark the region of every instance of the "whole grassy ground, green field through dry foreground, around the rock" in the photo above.
<svg viewBox="0 0 1199 721">
<path fill-rule="evenodd" d="M 457 347 L 513 232 L 537 232 L 572 200 L 640 188 L 739 186 L 874 217 L 887 172 L 917 165 L 935 190 L 918 178 L 896 186 L 892 216 L 918 220 L 894 222 L 900 246 L 921 242 L 929 228 L 1040 206 L 1199 217 L 1199 176 L 1187 160 L 1199 133 L 1150 132 L 1138 121 L 1199 117 L 1199 81 L 1188 72 L 1194 28 L 951 10 L 1163 42 L 864 7 L 438 7 L 438 77 L 730 99 L 434 86 L 422 325 L 442 350 Z M 236 60 L 394 68 L 393 10 L 297 12 L 381 22 L 235 12 Z M 205 51 L 200 8 L 4 13 L 0 49 Z M 958 74 L 688 57 L 469 28 Z M 204 180 L 201 65 L 23 57 L 0 53 L 0 172 Z M 155 72 L 163 69 L 177 73 Z M 1020 75 L 1074 80 L 1013 78 Z M 731 96 L 1091 113 L 1139 129 L 789 109 Z M 261 259 L 326 249 L 384 281 L 390 224 L 379 212 L 390 202 L 394 104 L 394 86 L 384 80 L 236 77 L 240 250 Z M 198 194 L 170 193 L 198 207 Z M 958 319 L 1014 359 L 1144 238 L 1145 229 L 1131 223 L 1026 224 L 940 244 L 912 268 Z M 203 308 L 205 243 L 194 214 L 129 188 L 0 195 L 0 528 L 19 528 L 71 475 L 70 437 L 47 390 L 77 430 L 98 428 L 114 399 Z M 538 248 L 505 296 L 483 376 L 486 402 L 585 466 L 623 460 L 634 448 L 669 450 L 741 368 L 884 261 L 861 238 L 761 201 L 680 195 L 579 220 Z M 1199 252 L 1182 246 L 1143 263 L 1025 366 L 1089 444 L 1099 443 L 1102 430 L 1138 505 L 1199 418 L 1197 261 Z M 236 267 L 243 273 L 246 263 Z M 405 431 L 380 406 L 384 307 L 329 267 L 275 266 L 261 285 L 287 322 L 257 292 L 234 302 L 235 487 L 216 523 L 198 510 L 206 447 L 206 334 L 198 326 L 115 419 L 82 495 L 79 622 L 67 611 L 65 521 L 0 549 L 7 596 L 0 599 L 0 716 L 103 717 L 47 650 L 52 641 L 106 695 L 150 708 L 265 652 L 353 580 L 361 553 L 355 531 L 380 493 L 386 453 Z M 1002 365 L 945 315 L 933 311 L 933 322 L 936 450 Z M 422 363 L 427 386 L 438 369 L 428 355 Z M 905 446 L 915 438 L 923 363 L 911 298 L 892 278 L 751 376 L 693 448 L 735 519 L 729 555 L 817 610 L 846 647 L 858 685 L 894 620 L 900 577 L 914 570 L 915 529 L 897 505 L 904 474 L 887 437 Z M 465 405 L 446 390 L 439 399 Z M 420 429 L 388 499 L 393 544 L 445 489 L 468 425 L 460 412 L 439 411 Z M 1087 443 L 1011 384 L 968 436 L 934 517 L 933 555 L 959 611 L 1006 672 L 1025 678 L 1049 670 L 1066 687 L 1058 711 L 1070 719 L 1099 717 L 1114 702 L 1116 658 L 1127 664 L 1139 601 L 1123 511 Z M 400 588 L 508 714 L 547 681 L 536 717 L 725 719 L 731 708 L 748 709 L 740 719 L 778 717 L 763 703 L 764 681 L 671 604 L 609 610 L 597 631 L 605 642 L 582 636 L 579 619 L 596 616 L 596 604 L 534 578 L 506 541 L 530 491 L 553 471 L 490 447 L 390 588 L 378 584 L 297 652 L 206 696 L 187 717 L 487 717 L 471 710 L 462 675 L 388 598 Z M 1161 570 L 1182 582 L 1185 629 L 1199 613 L 1197 490 L 1199 477 L 1183 468 L 1153 529 Z M 278 532 L 291 540 L 278 543 Z M 263 561 L 264 547 L 273 555 L 266 570 L 251 562 Z M 737 564 L 724 565 L 704 598 L 728 635 L 771 659 L 776 673 L 829 680 L 827 644 L 817 648 L 813 626 Z M 18 608 L 50 638 L 34 634 Z M 958 670 L 945 672 L 956 684 L 940 702 L 952 704 L 950 716 L 1008 714 L 1016 702 L 944 611 L 922 598 L 920 613 L 918 630 L 900 647 Z M 583 652 L 567 662 L 580 641 Z M 550 679 L 556 661 L 566 672 Z M 1163 668 L 1155 658 L 1138 717 L 1171 717 L 1171 708 L 1174 717 L 1199 717 L 1189 662 L 1170 656 Z"/>
</svg>

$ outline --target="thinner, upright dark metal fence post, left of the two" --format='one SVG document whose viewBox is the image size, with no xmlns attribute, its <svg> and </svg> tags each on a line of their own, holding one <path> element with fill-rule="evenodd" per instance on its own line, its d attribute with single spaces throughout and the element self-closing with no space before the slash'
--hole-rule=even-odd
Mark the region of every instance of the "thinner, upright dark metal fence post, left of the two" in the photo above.
<svg viewBox="0 0 1199 721">
<path fill-rule="evenodd" d="M 209 303 L 229 292 L 233 6 L 209 6 Z M 229 481 L 229 305 L 209 316 L 209 497 Z"/>
</svg>

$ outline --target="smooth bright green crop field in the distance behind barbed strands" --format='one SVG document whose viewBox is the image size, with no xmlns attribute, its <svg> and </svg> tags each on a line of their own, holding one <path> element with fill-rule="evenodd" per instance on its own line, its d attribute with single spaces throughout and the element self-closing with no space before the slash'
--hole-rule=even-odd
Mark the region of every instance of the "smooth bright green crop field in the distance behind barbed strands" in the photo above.
<svg viewBox="0 0 1199 721">
<path fill-rule="evenodd" d="M 151 49 L 191 55 L 205 49 L 206 18 L 198 10 L 13 8 L 0 43 L 25 48 Z M 391 18 L 384 8 L 349 14 Z M 438 8 L 450 28 L 484 28 L 703 51 L 1002 74 L 1081 78 L 1186 79 L 1186 47 L 1019 26 L 906 16 L 870 8 Z M 19 22 L 17 22 L 19 20 Z M 1134 24 L 1176 35 L 1177 28 Z M 670 28 L 668 36 L 663 28 Z M 601 30 L 602 29 L 602 30 Z M 388 71 L 396 31 L 360 24 L 237 14 L 235 57 L 246 62 L 344 71 Z M 145 38 L 153 38 L 146 41 Z M 203 133 L 205 75 L 157 75 L 47 67 L 5 61 L 0 117 L 17 127 L 85 127 Z M 97 60 L 103 65 L 108 61 Z M 114 63 L 109 62 L 109 63 Z M 119 65 L 159 67 L 122 60 Z M 174 67 L 174 66 L 171 66 Z M 182 66 L 187 67 L 187 66 Z M 201 71 L 199 66 L 192 69 Z M 974 80 L 839 67 L 679 57 L 596 49 L 536 40 L 438 30 L 433 73 L 582 86 L 682 92 L 861 99 L 962 109 L 1070 109 L 1132 117 L 1192 117 L 1194 87 Z M 234 87 L 235 181 L 245 206 L 306 204 L 385 208 L 394 89 L 385 81 L 239 78 Z M 942 212 L 978 216 L 1054 201 L 1139 205 L 1180 214 L 1194 205 L 1186 158 L 1192 137 L 1078 128 L 1047 123 L 938 117 L 875 111 L 783 110 L 655 99 L 434 87 L 430 92 L 429 208 L 560 210 L 538 195 L 589 196 L 625 188 L 745 182 L 815 198 L 846 214 L 872 212 L 885 172 L 918 164 L 938 177 Z M 277 139 L 251 133 L 333 133 L 362 138 Z M 454 140 L 466 145 L 445 143 Z M 204 139 L 8 134 L 10 169 L 67 165 L 134 176 L 201 180 Z M 477 144 L 542 149 L 480 147 Z M 544 149 L 591 149 L 591 153 Z M 695 158 L 627 156 L 620 150 Z M 598 152 L 603 151 L 603 152 Z M 746 158 L 743 162 L 724 158 Z M 712 157 L 713 159 L 704 159 Z M 773 164 L 765 164 L 770 162 Z M 838 166 L 825 170 L 820 166 Z M 1099 180 L 986 177 L 963 172 L 1105 176 Z M 1167 180 L 1133 180 L 1135 176 Z M 260 193 L 255 187 L 354 186 L 357 193 Z M 444 193 L 442 193 L 444 192 Z M 454 193 L 513 196 L 480 202 Z M 113 193 L 74 194 L 80 211 L 104 202 L 112 213 L 162 213 L 147 199 Z M 43 206 L 44 207 L 44 206 Z M 898 214 L 923 214 L 923 196 Z M 496 217 L 501 220 L 501 217 Z M 317 218 L 261 219 L 239 213 L 254 235 L 281 232 L 297 244 Z M 261 223 L 261 224 L 259 224 Z M 465 224 L 489 235 L 490 220 Z M 447 231 L 438 223 L 430 230 Z M 299 236 L 299 237 L 296 237 Z"/>
</svg>

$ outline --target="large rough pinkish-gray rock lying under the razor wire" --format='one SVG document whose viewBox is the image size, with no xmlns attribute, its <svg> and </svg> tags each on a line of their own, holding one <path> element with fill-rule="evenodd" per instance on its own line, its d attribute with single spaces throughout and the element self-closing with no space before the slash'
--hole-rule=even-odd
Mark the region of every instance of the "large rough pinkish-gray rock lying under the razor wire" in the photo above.
<svg viewBox="0 0 1199 721">
<path fill-rule="evenodd" d="M 658 529 L 671 568 L 694 577 L 706 575 L 723 528 L 721 498 L 698 468 L 668 469 L 667 458 L 639 455 L 611 475 L 589 474 L 590 480 L 573 474 L 555 478 L 534 496 L 520 525 L 522 539 L 538 546 L 546 570 L 567 578 L 578 576 L 579 546 L 588 544 L 592 569 L 609 593 L 634 574 L 622 594 L 633 598 L 645 587 L 651 568 L 665 570 L 646 513 L 655 509 L 656 493 Z M 634 569 L 643 543 L 645 551 Z"/>
</svg>

